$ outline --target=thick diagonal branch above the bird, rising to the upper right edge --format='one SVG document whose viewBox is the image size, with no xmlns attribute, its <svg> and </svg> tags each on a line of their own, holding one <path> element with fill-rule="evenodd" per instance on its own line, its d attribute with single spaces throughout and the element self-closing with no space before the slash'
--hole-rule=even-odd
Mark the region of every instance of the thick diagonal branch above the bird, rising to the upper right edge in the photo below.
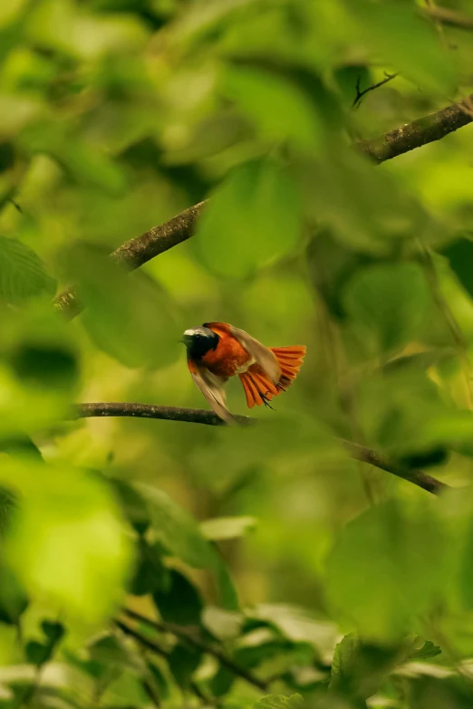
<svg viewBox="0 0 473 709">
<path fill-rule="evenodd" d="M 355 147 L 379 165 L 385 160 L 391 160 L 434 140 L 444 138 L 449 133 L 471 123 L 473 116 L 471 111 L 468 111 L 468 102 L 472 100 L 473 95 L 463 103 L 453 103 L 446 109 L 390 130 L 380 138 L 362 140 Z M 190 206 L 169 222 L 153 226 L 149 232 L 121 244 L 111 254 L 111 258 L 127 270 L 139 268 L 143 263 L 190 238 L 194 234 L 198 216 L 205 205 L 206 201 Z M 82 311 L 77 292 L 73 287 L 59 293 L 54 299 L 54 304 L 69 320 Z"/>
</svg>

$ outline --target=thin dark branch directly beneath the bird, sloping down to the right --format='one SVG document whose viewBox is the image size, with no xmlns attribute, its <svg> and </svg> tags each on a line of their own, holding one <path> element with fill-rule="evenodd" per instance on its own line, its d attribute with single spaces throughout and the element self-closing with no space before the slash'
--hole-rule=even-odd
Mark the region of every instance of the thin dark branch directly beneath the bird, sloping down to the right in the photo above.
<svg viewBox="0 0 473 709">
<path fill-rule="evenodd" d="M 217 417 L 213 411 L 204 408 L 179 408 L 179 407 L 159 407 L 152 404 L 126 404 L 118 402 L 78 404 L 75 408 L 74 417 L 136 417 L 136 418 L 158 418 L 166 421 L 184 421 L 191 424 L 205 424 L 207 426 L 227 426 L 225 421 Z M 246 416 L 236 416 L 239 424 L 256 423 L 256 419 Z M 401 477 L 409 483 L 427 490 L 428 493 L 439 494 L 446 490 L 449 485 L 441 483 L 434 477 L 422 473 L 420 470 L 413 470 L 399 465 L 395 461 L 384 458 L 381 454 L 351 443 L 343 439 L 336 439 L 344 449 L 354 458 L 362 463 L 368 463 L 381 470 Z"/>
</svg>

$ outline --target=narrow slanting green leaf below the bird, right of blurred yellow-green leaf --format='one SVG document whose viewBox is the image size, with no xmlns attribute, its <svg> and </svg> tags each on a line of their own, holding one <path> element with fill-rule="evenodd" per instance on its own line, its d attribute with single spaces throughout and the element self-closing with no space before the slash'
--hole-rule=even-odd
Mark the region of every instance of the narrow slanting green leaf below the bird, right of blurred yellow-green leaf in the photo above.
<svg viewBox="0 0 473 709">
<path fill-rule="evenodd" d="M 137 484 L 136 489 L 148 503 L 151 526 L 159 541 L 190 566 L 213 567 L 215 552 L 198 523 L 163 490 L 145 484 Z"/>
</svg>

